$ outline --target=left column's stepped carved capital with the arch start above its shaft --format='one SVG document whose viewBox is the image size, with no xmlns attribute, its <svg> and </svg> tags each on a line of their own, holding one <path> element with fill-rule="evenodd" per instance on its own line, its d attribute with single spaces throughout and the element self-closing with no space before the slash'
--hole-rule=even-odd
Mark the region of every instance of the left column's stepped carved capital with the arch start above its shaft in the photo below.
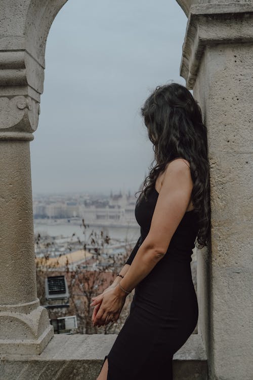
<svg viewBox="0 0 253 380">
<path fill-rule="evenodd" d="M 43 93 L 47 36 L 66 1 L 1 1 L 0 139 L 33 139 Z"/>
</svg>

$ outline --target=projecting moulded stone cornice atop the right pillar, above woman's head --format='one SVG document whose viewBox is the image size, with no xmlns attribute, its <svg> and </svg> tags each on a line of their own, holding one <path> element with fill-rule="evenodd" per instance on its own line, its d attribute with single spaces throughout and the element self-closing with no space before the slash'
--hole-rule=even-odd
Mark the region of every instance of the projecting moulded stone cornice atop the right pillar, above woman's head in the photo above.
<svg viewBox="0 0 253 380">
<path fill-rule="evenodd" d="M 194 87 L 206 46 L 252 41 L 253 2 L 192 5 L 180 66 L 180 75 L 186 80 L 186 87 Z"/>
</svg>

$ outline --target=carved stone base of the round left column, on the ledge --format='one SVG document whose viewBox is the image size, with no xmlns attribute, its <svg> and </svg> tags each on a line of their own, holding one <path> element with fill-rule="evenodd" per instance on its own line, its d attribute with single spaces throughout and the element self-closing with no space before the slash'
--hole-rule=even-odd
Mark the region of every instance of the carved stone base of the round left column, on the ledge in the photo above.
<svg viewBox="0 0 253 380">
<path fill-rule="evenodd" d="M 38 355 L 54 336 L 48 312 L 39 300 L 0 307 L 0 354 Z"/>
</svg>

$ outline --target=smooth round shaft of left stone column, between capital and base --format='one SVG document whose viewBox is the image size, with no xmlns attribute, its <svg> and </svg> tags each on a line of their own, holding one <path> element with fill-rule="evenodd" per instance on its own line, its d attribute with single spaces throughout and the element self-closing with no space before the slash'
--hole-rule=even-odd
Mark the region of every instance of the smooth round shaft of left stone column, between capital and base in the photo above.
<svg viewBox="0 0 253 380">
<path fill-rule="evenodd" d="M 37 294 L 29 143 L 0 141 L 0 154 L 0 305 L 6 310 L 5 305 L 35 301 Z"/>
</svg>

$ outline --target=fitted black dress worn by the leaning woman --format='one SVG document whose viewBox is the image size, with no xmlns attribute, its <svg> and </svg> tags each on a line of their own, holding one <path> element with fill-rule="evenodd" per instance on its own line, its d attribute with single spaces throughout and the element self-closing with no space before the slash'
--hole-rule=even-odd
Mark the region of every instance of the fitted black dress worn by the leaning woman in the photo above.
<svg viewBox="0 0 253 380">
<path fill-rule="evenodd" d="M 142 197 L 136 202 L 141 235 L 127 264 L 131 264 L 149 232 L 158 196 L 152 188 L 148 201 Z M 104 362 L 108 359 L 107 380 L 173 380 L 173 355 L 198 320 L 190 265 L 197 233 L 197 214 L 195 210 L 187 211 L 166 254 L 135 287 L 130 313 L 104 358 Z"/>
</svg>

